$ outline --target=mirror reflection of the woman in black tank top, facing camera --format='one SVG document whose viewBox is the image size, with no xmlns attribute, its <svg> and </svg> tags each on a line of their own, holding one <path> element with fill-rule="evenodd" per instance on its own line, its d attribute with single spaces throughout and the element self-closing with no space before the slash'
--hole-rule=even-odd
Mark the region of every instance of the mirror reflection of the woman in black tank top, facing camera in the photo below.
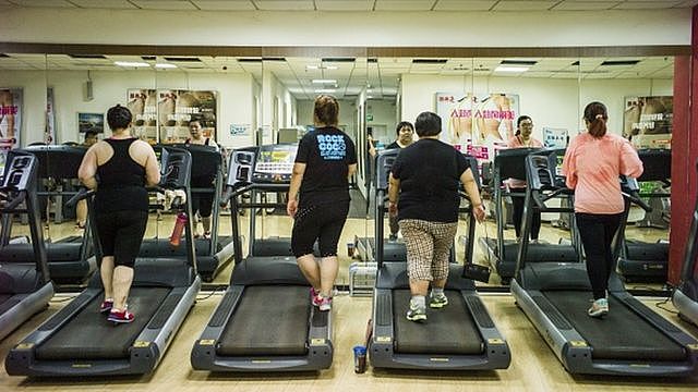
<svg viewBox="0 0 698 392">
<path fill-rule="evenodd" d="M 202 132 L 201 121 L 192 120 L 189 122 L 190 137 L 186 139 L 186 144 L 195 144 L 201 146 L 210 146 L 218 149 L 216 142 L 209 137 L 204 137 Z M 214 177 L 212 176 L 192 176 L 192 188 L 212 188 Z M 200 237 L 198 234 L 198 218 L 204 229 L 204 238 L 210 238 L 210 213 L 213 211 L 214 194 L 194 194 L 192 193 L 192 211 L 194 213 L 194 237 Z"/>
</svg>

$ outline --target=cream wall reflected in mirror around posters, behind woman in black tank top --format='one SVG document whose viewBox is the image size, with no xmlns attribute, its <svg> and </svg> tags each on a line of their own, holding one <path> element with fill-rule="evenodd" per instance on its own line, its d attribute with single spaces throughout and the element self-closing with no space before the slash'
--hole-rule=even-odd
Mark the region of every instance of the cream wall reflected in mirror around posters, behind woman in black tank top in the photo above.
<svg viewBox="0 0 698 392">
<path fill-rule="evenodd" d="M 250 74 L 214 74 L 125 71 L 91 71 L 94 99 L 83 99 L 87 72 L 83 71 L 4 71 L 0 85 L 24 88 L 22 144 L 43 139 L 46 86 L 53 87 L 56 137 L 58 143 L 82 142 L 77 133 L 77 112 L 105 113 L 116 103 L 125 105 L 129 88 L 183 88 L 218 91 L 217 139 L 226 147 L 252 144 L 252 135 L 230 136 L 230 124 L 253 123 L 252 76 Z M 105 124 L 106 126 L 106 124 Z"/>
</svg>

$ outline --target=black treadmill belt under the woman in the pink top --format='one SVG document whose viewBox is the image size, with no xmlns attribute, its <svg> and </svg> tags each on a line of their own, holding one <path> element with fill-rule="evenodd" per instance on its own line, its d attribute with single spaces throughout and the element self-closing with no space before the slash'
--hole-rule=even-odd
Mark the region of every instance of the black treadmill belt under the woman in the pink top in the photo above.
<svg viewBox="0 0 698 392">
<path fill-rule="evenodd" d="M 587 316 L 590 292 L 543 292 L 557 310 L 593 348 L 599 359 L 685 360 L 682 346 L 669 339 L 630 308 L 609 297 L 609 315 L 603 319 Z"/>
</svg>

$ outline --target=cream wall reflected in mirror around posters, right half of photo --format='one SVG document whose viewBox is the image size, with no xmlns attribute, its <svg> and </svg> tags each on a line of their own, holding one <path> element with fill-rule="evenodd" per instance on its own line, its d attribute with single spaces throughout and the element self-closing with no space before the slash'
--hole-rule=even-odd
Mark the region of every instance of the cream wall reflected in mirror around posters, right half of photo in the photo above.
<svg viewBox="0 0 698 392">
<path fill-rule="evenodd" d="M 470 82 L 467 83 L 470 87 Z M 506 93 L 519 96 L 519 112 L 533 119 L 534 137 L 543 127 L 566 128 L 570 135 L 583 128 L 587 103 L 599 100 L 609 108 L 609 128 L 621 134 L 623 98 L 633 95 L 673 95 L 671 79 L 577 79 L 534 77 L 476 78 L 476 94 Z M 465 93 L 461 76 L 402 75 L 402 119 L 413 122 L 422 111 L 435 111 L 435 93 Z"/>
</svg>

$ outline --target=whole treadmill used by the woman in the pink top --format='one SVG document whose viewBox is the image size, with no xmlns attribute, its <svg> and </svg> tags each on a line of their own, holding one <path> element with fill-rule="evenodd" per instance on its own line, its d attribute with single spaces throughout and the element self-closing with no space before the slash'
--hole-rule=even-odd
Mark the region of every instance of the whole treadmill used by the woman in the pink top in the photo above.
<svg viewBox="0 0 698 392">
<path fill-rule="evenodd" d="M 534 204 L 546 212 L 573 210 L 545 207 L 553 197 L 573 194 L 555 174 L 555 154 L 532 155 L 526 160 L 525 238 L 530 232 Z M 616 257 L 630 198 L 643 206 L 631 194 L 637 183 L 630 179 L 623 182 L 626 208 L 614 240 Z M 567 371 L 655 377 L 696 373 L 698 341 L 633 297 L 615 272 L 609 283 L 610 313 L 603 319 L 592 318 L 587 315 L 592 295 L 585 265 L 562 260 L 526 262 L 527 245 L 528 241 L 521 241 L 512 293 Z"/>
</svg>

